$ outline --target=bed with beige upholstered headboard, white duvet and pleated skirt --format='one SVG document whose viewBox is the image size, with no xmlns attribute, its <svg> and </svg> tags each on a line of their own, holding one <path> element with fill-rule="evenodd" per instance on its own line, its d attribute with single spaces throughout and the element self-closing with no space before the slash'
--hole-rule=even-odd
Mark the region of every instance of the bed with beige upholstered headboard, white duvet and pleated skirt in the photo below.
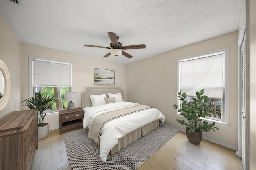
<svg viewBox="0 0 256 170">
<path fill-rule="evenodd" d="M 105 101 L 112 101 L 113 96 L 116 101 L 107 102 L 107 104 L 97 104 L 98 98 L 96 100 L 92 97 L 101 95 L 105 95 L 108 98 Z M 100 146 L 100 158 L 102 161 L 106 161 L 108 154 L 119 152 L 120 149 L 125 148 L 132 142 L 158 128 L 159 120 L 162 123 L 165 121 L 164 115 L 158 109 L 139 105 L 138 103 L 125 102 L 123 99 L 124 91 L 121 87 L 116 86 L 87 87 L 86 91 L 82 93 L 82 109 L 84 110 L 83 127 L 89 130 L 88 137 L 93 138 L 91 134 L 97 131 L 97 129 L 100 129 L 100 126 L 94 125 L 98 115 L 119 114 L 122 109 L 130 109 L 131 112 L 125 116 L 119 116 L 118 118 L 105 122 L 100 129 L 98 138 L 93 138 L 96 144 Z M 135 107 L 139 108 L 138 110 L 140 111 L 132 111 Z M 102 121 L 102 118 L 98 120 Z"/>
</svg>

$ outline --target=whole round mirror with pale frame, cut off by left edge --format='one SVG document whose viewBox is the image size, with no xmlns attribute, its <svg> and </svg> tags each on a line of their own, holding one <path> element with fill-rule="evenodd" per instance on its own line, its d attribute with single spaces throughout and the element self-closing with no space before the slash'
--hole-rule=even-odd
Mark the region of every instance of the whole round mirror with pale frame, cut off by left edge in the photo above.
<svg viewBox="0 0 256 170">
<path fill-rule="evenodd" d="M 0 60 L 0 111 L 2 111 L 10 98 L 11 79 L 7 66 Z"/>
</svg>

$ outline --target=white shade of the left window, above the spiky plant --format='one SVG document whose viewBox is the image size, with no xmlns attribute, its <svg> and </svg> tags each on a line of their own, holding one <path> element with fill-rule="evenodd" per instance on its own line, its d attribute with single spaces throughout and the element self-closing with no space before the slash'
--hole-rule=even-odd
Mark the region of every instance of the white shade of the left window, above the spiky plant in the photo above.
<svg viewBox="0 0 256 170">
<path fill-rule="evenodd" d="M 72 85 L 72 65 L 34 60 L 34 85 Z"/>
</svg>

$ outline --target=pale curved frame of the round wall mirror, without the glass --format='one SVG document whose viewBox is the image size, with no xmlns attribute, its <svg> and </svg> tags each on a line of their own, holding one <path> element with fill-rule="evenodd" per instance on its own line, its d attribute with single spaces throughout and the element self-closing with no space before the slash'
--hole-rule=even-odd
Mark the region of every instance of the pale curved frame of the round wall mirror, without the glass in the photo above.
<svg viewBox="0 0 256 170">
<path fill-rule="evenodd" d="M 4 76 L 4 96 L 2 100 L 0 101 L 0 111 L 4 110 L 6 107 L 9 98 L 10 98 L 10 92 L 11 92 L 11 78 L 10 78 L 10 73 L 8 71 L 8 68 L 4 61 L 0 60 L 0 71 L 2 72 Z"/>
</svg>

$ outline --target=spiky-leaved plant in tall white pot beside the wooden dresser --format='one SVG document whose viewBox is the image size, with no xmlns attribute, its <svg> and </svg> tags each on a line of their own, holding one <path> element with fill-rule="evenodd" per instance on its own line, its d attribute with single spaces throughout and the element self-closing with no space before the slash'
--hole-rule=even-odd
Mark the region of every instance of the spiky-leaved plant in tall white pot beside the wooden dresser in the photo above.
<svg viewBox="0 0 256 170">
<path fill-rule="evenodd" d="M 52 109 L 53 104 L 50 104 L 50 101 L 53 101 L 54 98 L 48 95 L 43 95 L 41 92 L 36 93 L 35 97 L 28 97 L 21 103 L 25 102 L 24 105 L 30 109 L 36 109 L 38 111 L 38 140 L 46 138 L 49 132 L 49 123 L 43 123 L 46 112 L 48 109 Z"/>
</svg>

